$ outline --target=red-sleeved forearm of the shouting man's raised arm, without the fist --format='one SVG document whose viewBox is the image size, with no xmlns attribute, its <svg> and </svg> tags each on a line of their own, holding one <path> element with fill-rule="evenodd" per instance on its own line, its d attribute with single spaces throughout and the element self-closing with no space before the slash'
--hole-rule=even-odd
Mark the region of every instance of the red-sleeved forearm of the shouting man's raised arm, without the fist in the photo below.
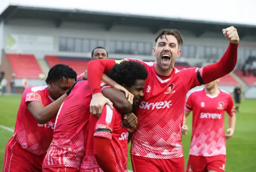
<svg viewBox="0 0 256 172">
<path fill-rule="evenodd" d="M 217 63 L 203 67 L 201 77 L 204 84 L 210 83 L 233 71 L 237 61 L 238 44 L 230 43 L 228 49 Z"/>
</svg>

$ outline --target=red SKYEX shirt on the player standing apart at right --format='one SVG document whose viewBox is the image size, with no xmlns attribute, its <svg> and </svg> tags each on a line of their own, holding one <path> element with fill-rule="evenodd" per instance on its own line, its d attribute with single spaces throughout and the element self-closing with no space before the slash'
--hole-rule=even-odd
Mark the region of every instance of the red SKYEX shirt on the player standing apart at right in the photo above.
<svg viewBox="0 0 256 172">
<path fill-rule="evenodd" d="M 218 95 L 205 93 L 204 88 L 193 91 L 188 96 L 185 111 L 193 111 L 190 155 L 226 155 L 224 129 L 225 111 L 229 116 L 235 112 L 230 93 L 220 90 Z"/>
</svg>

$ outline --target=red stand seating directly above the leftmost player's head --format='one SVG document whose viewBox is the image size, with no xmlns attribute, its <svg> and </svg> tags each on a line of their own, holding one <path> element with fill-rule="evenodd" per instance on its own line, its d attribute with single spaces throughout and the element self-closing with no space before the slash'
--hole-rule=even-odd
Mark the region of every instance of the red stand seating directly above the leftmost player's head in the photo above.
<svg viewBox="0 0 256 172">
<path fill-rule="evenodd" d="M 46 55 L 45 60 L 48 63 L 49 67 L 52 67 L 56 64 L 69 65 L 74 69 L 74 71 L 76 71 L 78 75 L 80 75 L 87 69 L 87 63 L 91 60 L 91 58 L 60 57 L 56 55 Z"/>
</svg>

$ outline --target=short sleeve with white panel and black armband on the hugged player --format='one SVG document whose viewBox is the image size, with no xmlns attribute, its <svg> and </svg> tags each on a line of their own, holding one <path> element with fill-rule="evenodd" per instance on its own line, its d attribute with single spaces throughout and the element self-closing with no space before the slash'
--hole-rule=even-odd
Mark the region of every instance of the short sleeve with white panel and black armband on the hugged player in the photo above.
<svg viewBox="0 0 256 172">
<path fill-rule="evenodd" d="M 95 125 L 94 136 L 112 140 L 112 132 L 116 121 L 116 115 L 109 105 L 104 105 L 100 118 Z"/>
</svg>

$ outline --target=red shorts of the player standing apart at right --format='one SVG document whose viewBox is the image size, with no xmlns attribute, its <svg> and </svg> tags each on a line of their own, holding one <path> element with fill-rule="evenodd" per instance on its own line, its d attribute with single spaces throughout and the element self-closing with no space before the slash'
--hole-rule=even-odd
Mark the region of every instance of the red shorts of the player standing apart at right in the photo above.
<svg viewBox="0 0 256 172">
<path fill-rule="evenodd" d="M 226 155 L 216 156 L 194 156 L 190 155 L 186 172 L 224 172 L 226 164 Z"/>
</svg>

